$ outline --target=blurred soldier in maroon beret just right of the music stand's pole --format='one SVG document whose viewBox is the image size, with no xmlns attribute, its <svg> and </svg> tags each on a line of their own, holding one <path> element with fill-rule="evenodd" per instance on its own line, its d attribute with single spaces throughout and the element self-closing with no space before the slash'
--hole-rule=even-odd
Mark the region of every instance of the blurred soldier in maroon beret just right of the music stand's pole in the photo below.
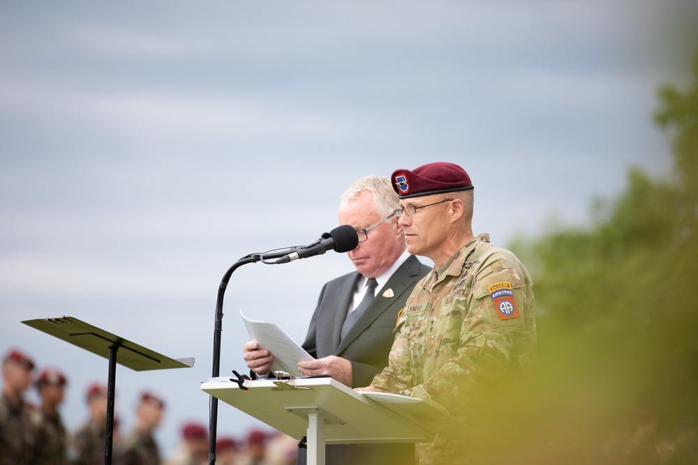
<svg viewBox="0 0 698 465">
<path fill-rule="evenodd" d="M 151 392 L 144 392 L 136 408 L 136 425 L 114 449 L 116 465 L 160 465 L 160 452 L 153 432 L 163 418 L 165 403 Z"/>
</svg>

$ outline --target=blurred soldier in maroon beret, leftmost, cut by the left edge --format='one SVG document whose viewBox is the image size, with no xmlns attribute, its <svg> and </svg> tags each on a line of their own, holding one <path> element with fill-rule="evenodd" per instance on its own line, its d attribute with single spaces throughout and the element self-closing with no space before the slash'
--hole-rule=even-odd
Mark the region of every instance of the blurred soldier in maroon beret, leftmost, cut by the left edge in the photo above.
<svg viewBox="0 0 698 465">
<path fill-rule="evenodd" d="M 0 397 L 0 465 L 34 463 L 36 434 L 31 409 L 22 399 L 31 386 L 34 362 L 20 351 L 10 351 L 2 364 Z"/>
</svg>

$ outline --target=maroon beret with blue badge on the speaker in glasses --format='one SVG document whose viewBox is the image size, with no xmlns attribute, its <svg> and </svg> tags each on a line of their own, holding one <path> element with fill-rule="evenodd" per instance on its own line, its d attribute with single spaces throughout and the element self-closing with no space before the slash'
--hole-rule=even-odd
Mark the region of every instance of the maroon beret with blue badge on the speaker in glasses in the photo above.
<svg viewBox="0 0 698 465">
<path fill-rule="evenodd" d="M 401 199 L 473 188 L 466 170 L 449 162 L 427 163 L 412 171 L 396 169 L 391 181 Z"/>
</svg>

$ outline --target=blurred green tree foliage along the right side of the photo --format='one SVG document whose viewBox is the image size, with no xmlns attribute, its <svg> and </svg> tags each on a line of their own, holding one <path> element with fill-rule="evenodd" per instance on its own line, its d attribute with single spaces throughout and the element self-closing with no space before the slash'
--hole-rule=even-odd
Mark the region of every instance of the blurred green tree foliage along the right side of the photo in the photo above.
<svg viewBox="0 0 698 465">
<path fill-rule="evenodd" d="M 631 169 L 589 227 L 512 247 L 535 282 L 540 360 L 535 422 L 519 426 L 537 459 L 519 463 L 660 463 L 698 420 L 698 56 L 693 71 L 658 93 L 672 176 Z"/>
</svg>

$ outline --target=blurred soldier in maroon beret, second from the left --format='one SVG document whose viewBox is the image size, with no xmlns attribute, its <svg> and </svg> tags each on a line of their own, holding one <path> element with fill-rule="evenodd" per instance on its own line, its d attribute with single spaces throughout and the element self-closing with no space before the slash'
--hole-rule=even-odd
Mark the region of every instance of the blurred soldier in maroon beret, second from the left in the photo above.
<svg viewBox="0 0 698 465">
<path fill-rule="evenodd" d="M 67 434 L 58 406 L 63 402 L 66 377 L 56 369 L 45 369 L 36 381 L 41 408 L 32 412 L 36 428 L 36 465 L 67 465 Z"/>
</svg>

